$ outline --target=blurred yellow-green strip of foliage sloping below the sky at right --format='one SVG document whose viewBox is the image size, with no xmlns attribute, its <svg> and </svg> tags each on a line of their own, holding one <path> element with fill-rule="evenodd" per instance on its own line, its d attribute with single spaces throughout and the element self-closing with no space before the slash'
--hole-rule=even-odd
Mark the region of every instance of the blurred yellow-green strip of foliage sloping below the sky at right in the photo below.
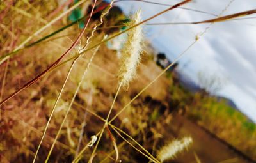
<svg viewBox="0 0 256 163">
<path fill-rule="evenodd" d="M 248 155 L 256 153 L 256 125 L 226 100 L 205 93 L 189 93 L 179 83 L 170 86 L 170 102 L 186 109 L 186 116 Z M 239 139 L 237 139 L 237 136 Z"/>
</svg>

